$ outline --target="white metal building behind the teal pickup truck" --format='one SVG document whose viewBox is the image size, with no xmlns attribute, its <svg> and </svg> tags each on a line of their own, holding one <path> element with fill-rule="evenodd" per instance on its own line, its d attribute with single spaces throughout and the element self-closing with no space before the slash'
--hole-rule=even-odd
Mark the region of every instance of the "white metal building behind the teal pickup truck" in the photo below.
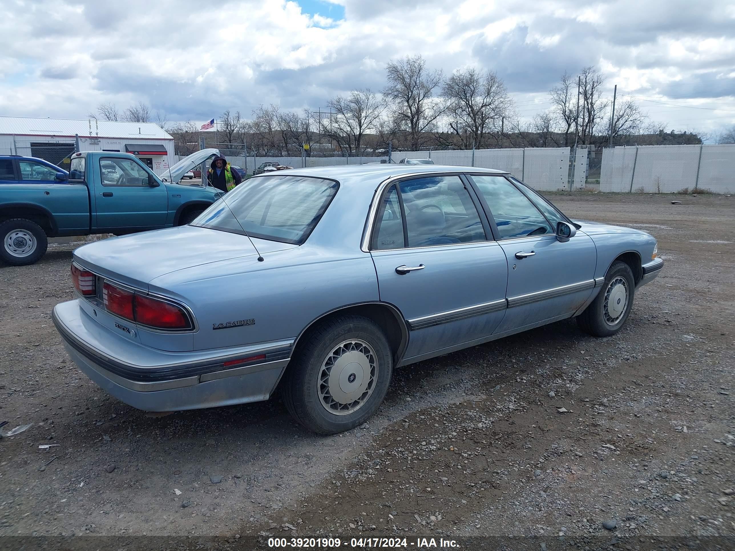
<svg viewBox="0 0 735 551">
<path fill-rule="evenodd" d="M 68 155 L 79 151 L 131 153 L 154 173 L 173 165 L 173 137 L 154 123 L 111 120 L 0 117 L 0 155 L 40 157 L 62 168 Z"/>
</svg>

